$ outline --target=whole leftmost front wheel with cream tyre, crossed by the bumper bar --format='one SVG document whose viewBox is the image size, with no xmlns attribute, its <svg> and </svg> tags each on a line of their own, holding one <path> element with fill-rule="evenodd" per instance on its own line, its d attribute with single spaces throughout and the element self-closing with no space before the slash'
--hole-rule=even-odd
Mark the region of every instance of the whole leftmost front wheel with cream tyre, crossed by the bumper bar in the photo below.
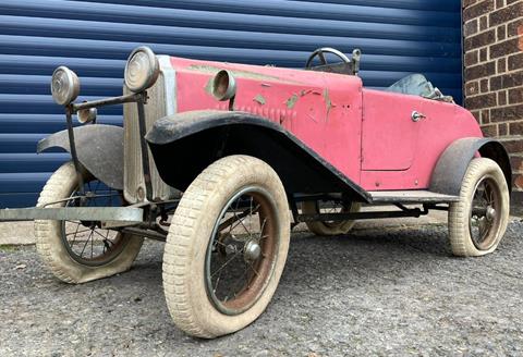
<svg viewBox="0 0 523 357">
<path fill-rule="evenodd" d="M 83 173 L 85 187 L 96 193 L 100 182 Z M 38 207 L 75 196 L 78 182 L 71 162 L 58 169 L 44 186 Z M 88 198 L 85 206 L 118 206 L 121 193 L 105 189 L 106 197 Z M 74 207 L 77 199 L 47 207 Z M 107 202 L 106 202 L 107 201 Z M 131 268 L 143 238 L 100 229 L 86 221 L 35 221 L 36 248 L 49 270 L 63 282 L 85 283 L 110 276 Z"/>
</svg>

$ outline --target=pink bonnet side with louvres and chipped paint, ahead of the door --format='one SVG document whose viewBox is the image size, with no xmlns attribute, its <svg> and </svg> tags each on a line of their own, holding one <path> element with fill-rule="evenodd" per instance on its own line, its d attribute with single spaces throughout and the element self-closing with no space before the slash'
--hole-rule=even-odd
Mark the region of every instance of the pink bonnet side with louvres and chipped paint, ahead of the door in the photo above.
<svg viewBox="0 0 523 357">
<path fill-rule="evenodd" d="M 362 81 L 355 76 L 171 58 L 178 111 L 227 110 L 210 95 L 220 70 L 238 83 L 234 110 L 282 125 L 352 181 L 360 181 Z M 203 143 L 205 145 L 205 143 Z"/>
</svg>

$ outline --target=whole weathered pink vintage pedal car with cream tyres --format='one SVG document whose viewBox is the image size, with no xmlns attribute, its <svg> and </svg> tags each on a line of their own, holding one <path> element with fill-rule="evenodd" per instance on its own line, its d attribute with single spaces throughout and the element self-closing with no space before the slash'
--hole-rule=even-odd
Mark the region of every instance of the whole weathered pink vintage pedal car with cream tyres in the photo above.
<svg viewBox="0 0 523 357">
<path fill-rule="evenodd" d="M 238 331 L 266 309 L 291 222 L 333 235 L 354 220 L 438 209 L 454 255 L 495 250 L 509 219 L 502 145 L 421 75 L 364 88 L 360 56 L 318 49 L 300 71 L 139 47 L 123 96 L 78 103 L 77 76 L 58 67 L 51 89 L 68 130 L 38 151 L 61 147 L 72 161 L 37 208 L 2 210 L 0 220 L 34 219 L 41 259 L 68 283 L 125 271 L 144 237 L 166 241 L 167 305 L 199 337 Z M 96 124 L 97 107 L 120 103 L 123 128 Z M 86 125 L 73 128 L 73 115 Z"/>
</svg>

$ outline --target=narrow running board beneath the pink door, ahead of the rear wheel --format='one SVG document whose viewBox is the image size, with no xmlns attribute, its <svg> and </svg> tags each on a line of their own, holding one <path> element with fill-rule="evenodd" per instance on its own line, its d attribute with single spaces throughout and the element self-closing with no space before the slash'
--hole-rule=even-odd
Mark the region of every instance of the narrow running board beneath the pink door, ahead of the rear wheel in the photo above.
<svg viewBox="0 0 523 357">
<path fill-rule="evenodd" d="M 437 194 L 429 190 L 370 190 L 372 204 L 449 204 L 459 196 Z"/>
</svg>

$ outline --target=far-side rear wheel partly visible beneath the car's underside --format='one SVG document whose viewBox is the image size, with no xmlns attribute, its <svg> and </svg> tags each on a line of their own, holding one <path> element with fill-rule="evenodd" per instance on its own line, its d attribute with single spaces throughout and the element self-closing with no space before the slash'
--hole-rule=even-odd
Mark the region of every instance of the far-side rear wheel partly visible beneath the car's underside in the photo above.
<svg viewBox="0 0 523 357">
<path fill-rule="evenodd" d="M 325 208 L 321 208 L 325 207 Z M 316 213 L 355 213 L 360 212 L 362 205 L 360 202 L 337 202 L 337 201 L 304 201 L 302 202 L 303 214 Z M 349 233 L 356 221 L 336 221 L 336 222 L 306 222 L 308 230 L 323 236 L 343 235 Z"/>
</svg>

